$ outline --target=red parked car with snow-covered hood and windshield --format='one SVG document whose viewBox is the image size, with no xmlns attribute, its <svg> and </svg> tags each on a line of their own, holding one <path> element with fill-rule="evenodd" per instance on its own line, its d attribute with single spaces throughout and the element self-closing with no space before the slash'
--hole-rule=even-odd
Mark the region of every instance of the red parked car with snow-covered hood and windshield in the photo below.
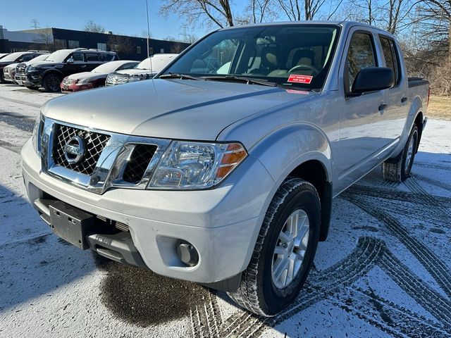
<svg viewBox="0 0 451 338">
<path fill-rule="evenodd" d="M 138 63 L 138 61 L 131 60 L 110 61 L 99 65 L 90 72 L 66 76 L 61 82 L 61 91 L 78 92 L 79 90 L 103 87 L 109 73 L 135 68 Z"/>
</svg>

